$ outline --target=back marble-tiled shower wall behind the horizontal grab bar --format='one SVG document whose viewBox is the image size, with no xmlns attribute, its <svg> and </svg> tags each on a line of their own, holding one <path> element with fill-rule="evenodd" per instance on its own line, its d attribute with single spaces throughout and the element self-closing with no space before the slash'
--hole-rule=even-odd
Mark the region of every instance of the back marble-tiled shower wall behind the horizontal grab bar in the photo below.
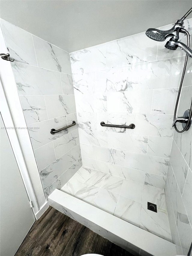
<svg viewBox="0 0 192 256">
<path fill-rule="evenodd" d="M 108 173 L 113 164 L 117 176 L 124 168 L 134 180 L 140 171 L 141 183 L 164 189 L 184 55 L 145 32 L 70 54 L 83 166 Z"/>
</svg>

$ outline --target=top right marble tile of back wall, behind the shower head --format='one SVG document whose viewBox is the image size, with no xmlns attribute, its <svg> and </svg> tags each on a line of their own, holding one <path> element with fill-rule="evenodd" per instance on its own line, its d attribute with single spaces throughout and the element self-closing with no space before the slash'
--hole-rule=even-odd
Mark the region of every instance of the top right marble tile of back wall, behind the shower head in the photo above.
<svg viewBox="0 0 192 256">
<path fill-rule="evenodd" d="M 170 30 L 174 24 L 166 25 L 160 27 L 160 30 Z M 190 33 L 192 28 L 192 19 L 184 20 L 184 28 Z M 187 44 L 187 37 L 185 34 L 179 34 L 179 41 L 182 41 L 184 44 Z M 174 58 L 179 56 L 185 56 L 185 52 L 182 51 L 181 48 L 178 47 L 176 51 L 169 50 L 165 48 L 165 42 L 158 42 L 158 52 L 157 59 L 167 59 Z"/>
</svg>

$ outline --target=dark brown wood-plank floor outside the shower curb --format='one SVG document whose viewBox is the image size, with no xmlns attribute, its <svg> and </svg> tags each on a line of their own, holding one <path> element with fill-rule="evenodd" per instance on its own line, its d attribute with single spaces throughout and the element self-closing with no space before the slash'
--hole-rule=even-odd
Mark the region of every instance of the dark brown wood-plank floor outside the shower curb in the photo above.
<svg viewBox="0 0 192 256">
<path fill-rule="evenodd" d="M 34 223 L 15 256 L 133 256 L 77 221 L 49 207 Z"/>
</svg>

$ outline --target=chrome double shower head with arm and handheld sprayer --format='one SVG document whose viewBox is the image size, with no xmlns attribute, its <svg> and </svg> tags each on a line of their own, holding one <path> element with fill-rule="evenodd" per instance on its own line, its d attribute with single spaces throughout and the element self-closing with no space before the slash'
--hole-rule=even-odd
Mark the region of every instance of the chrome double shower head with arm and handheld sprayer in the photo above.
<svg viewBox="0 0 192 256">
<path fill-rule="evenodd" d="M 187 45 L 179 42 L 179 33 L 186 34 L 183 23 L 184 19 L 192 12 L 192 8 L 180 19 L 176 20 L 174 26 L 170 30 L 159 30 L 159 29 L 147 29 L 146 35 L 159 42 L 165 41 L 168 37 L 171 39 L 165 44 L 165 47 L 169 50 L 176 50 L 179 46 L 189 57 L 192 57 L 192 50 Z"/>
</svg>

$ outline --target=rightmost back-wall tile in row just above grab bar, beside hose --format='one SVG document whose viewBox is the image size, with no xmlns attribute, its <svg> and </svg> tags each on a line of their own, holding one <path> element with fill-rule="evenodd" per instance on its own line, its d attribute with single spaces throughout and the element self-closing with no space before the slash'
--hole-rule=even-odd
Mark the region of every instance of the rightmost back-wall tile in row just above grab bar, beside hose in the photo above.
<svg viewBox="0 0 192 256">
<path fill-rule="evenodd" d="M 152 114 L 174 114 L 178 88 L 153 91 Z"/>
</svg>

